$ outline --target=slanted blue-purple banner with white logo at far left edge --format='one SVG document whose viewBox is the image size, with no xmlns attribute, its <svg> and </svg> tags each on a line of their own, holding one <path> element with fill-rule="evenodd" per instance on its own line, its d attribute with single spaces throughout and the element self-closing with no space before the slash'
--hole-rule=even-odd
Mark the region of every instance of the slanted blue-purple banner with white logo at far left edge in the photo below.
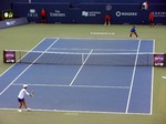
<svg viewBox="0 0 166 124">
<path fill-rule="evenodd" d="M 0 29 L 27 24 L 27 23 L 29 23 L 27 18 L 3 20 L 3 21 L 0 21 Z"/>
</svg>

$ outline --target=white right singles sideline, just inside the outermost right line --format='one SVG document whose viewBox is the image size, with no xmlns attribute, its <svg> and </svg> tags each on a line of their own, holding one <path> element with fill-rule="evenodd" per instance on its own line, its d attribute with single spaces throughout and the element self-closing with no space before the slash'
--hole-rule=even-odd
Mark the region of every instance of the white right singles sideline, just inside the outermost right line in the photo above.
<svg viewBox="0 0 166 124">
<path fill-rule="evenodd" d="M 142 41 L 139 40 L 136 56 L 135 56 L 135 63 L 134 63 L 133 75 L 132 75 L 131 87 L 129 87 L 129 93 L 128 93 L 125 113 L 128 113 L 128 108 L 129 108 L 131 96 L 132 96 L 132 91 L 133 91 L 133 84 L 134 84 L 134 79 L 135 79 L 135 72 L 136 72 L 136 66 L 137 66 L 137 59 L 138 59 L 138 53 L 139 53 L 139 49 L 141 49 L 141 43 L 142 43 Z"/>
</svg>

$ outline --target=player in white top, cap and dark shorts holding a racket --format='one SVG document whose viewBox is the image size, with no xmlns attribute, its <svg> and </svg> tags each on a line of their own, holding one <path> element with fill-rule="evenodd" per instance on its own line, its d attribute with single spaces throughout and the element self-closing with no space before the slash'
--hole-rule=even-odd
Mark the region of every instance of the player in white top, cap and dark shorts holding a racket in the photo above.
<svg viewBox="0 0 166 124">
<path fill-rule="evenodd" d="M 20 91 L 20 93 L 19 93 L 19 95 L 18 95 L 18 101 L 19 101 L 19 103 L 20 103 L 19 110 L 18 110 L 19 112 L 22 112 L 22 111 L 21 111 L 22 105 L 23 105 L 28 111 L 31 111 L 31 108 L 29 108 L 29 107 L 27 106 L 24 96 L 25 96 L 25 94 L 29 95 L 29 96 L 33 96 L 33 92 L 29 93 L 29 92 L 27 91 L 27 87 L 28 87 L 28 84 L 23 84 L 22 90 Z"/>
</svg>

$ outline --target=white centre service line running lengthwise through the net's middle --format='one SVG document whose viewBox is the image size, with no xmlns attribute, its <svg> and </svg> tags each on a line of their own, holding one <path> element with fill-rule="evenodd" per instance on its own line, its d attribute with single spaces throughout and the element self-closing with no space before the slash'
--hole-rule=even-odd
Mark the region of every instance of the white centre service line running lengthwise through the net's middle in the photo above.
<svg viewBox="0 0 166 124">
<path fill-rule="evenodd" d="M 87 59 L 90 58 L 91 53 L 93 52 L 93 49 L 90 51 L 90 53 L 87 54 L 86 59 L 84 60 L 84 62 L 82 63 L 82 65 L 80 66 L 79 71 L 76 72 L 75 76 L 73 78 L 73 80 L 70 83 L 70 86 L 74 83 L 75 79 L 77 78 L 77 75 L 80 74 L 81 70 L 83 69 L 84 64 L 86 63 Z"/>
</svg>

